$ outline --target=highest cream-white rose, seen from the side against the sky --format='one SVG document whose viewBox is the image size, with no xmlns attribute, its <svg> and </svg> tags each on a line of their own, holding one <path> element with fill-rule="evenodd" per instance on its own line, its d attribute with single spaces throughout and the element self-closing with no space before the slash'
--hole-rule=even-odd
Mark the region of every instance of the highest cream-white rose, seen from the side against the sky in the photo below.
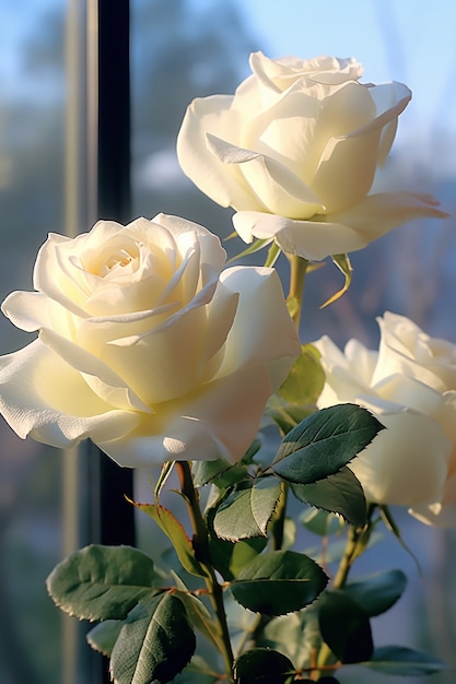
<svg viewBox="0 0 456 684">
<path fill-rule="evenodd" d="M 435 200 L 367 194 L 411 93 L 401 83 L 361 84 L 354 59 L 250 56 L 234 95 L 195 99 L 177 139 L 185 174 L 233 207 L 238 235 L 311 260 L 365 247 L 422 216 Z"/>
</svg>

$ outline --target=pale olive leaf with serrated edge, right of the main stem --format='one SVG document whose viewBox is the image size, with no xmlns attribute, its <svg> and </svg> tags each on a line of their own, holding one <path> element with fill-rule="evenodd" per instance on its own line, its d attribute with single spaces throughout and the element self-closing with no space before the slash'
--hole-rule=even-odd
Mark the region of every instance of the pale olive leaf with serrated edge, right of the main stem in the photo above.
<svg viewBox="0 0 456 684">
<path fill-rule="evenodd" d="M 220 504 L 213 529 L 221 539 L 236 542 L 266 536 L 280 498 L 282 485 L 274 477 L 260 477 L 241 483 Z"/>
</svg>

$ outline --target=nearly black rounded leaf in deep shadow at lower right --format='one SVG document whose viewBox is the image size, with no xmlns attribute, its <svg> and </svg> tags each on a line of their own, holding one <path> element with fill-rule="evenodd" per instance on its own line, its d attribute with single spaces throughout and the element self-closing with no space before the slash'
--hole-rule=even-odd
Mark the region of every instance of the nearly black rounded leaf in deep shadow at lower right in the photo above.
<svg viewBox="0 0 456 684">
<path fill-rule="evenodd" d="M 318 603 L 321 637 L 334 654 L 347 664 L 369 660 L 374 646 L 361 605 L 342 591 L 327 591 Z"/>
</svg>

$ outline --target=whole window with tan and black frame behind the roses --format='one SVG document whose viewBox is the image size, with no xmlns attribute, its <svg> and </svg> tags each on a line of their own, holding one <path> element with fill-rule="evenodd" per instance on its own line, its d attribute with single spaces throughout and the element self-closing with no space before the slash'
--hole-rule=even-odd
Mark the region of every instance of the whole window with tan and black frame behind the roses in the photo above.
<svg viewBox="0 0 456 684">
<path fill-rule="evenodd" d="M 360 31 L 351 16 L 361 4 Z M 127 222 L 163 211 L 226 237 L 232 231 L 230 212 L 184 177 L 175 138 L 190 99 L 233 92 L 248 73 L 248 54 L 258 49 L 271 57 L 355 54 L 366 66 L 367 79 L 409 83 L 414 101 L 399 125 L 391 158 L 396 176 L 406 182 L 410 178 L 411 187 L 418 180 L 454 211 L 455 55 L 446 32 L 454 26 L 455 11 L 447 3 L 436 17 L 422 0 L 417 0 L 419 10 L 398 4 L 384 2 L 379 11 L 374 1 L 349 0 L 342 11 L 336 0 L 314 3 L 312 10 L 287 0 L 261 3 L 261 10 L 255 0 L 7 3 L 0 26 L 1 299 L 12 290 L 32 288 L 34 259 L 49 231 L 83 232 L 98 216 Z M 421 43 L 424 32 L 426 49 Z M 318 306 L 340 281 L 336 271 L 329 281 L 329 267 L 323 269 L 324 276 L 315 274 L 307 294 L 315 303 L 308 339 L 328 332 L 341 343 L 353 334 L 374 342 L 375 315 L 399 308 L 433 334 L 455 340 L 453 228 L 408 225 L 373 244 L 362 258 L 353 256 L 350 297 L 325 311 Z M 232 249 L 230 243 L 226 248 Z M 409 268 L 411 252 L 419 270 Z M 394 281 L 388 275 L 393 261 Z M 28 342 L 3 317 L 0 339 L 2 354 Z M 131 492 L 131 473 L 89 445 L 61 453 L 22 441 L 3 422 L 0 449 L 0 680 L 107 682 L 105 665 L 84 642 L 84 626 L 56 610 L 44 581 L 77 546 L 132 541 L 132 510 L 122 502 L 124 493 Z M 141 487 L 147 496 L 148 483 Z M 150 527 L 138 529 L 147 547 Z M 425 532 L 410 523 L 407 541 L 412 549 L 417 544 L 423 564 L 432 566 L 433 581 L 421 598 L 413 563 L 404 554 L 407 573 L 416 578 L 406 610 L 411 614 L 412 603 L 420 611 L 421 622 L 439 635 L 430 650 L 436 652 L 440 646 L 439 654 L 451 662 L 455 605 L 445 597 L 456 594 L 446 568 L 456 540 L 453 532 L 433 532 L 434 546 L 426 554 Z M 393 542 L 390 550 L 397 554 Z M 381 628 L 400 628 L 410 642 L 425 648 L 429 634 L 416 632 L 420 621 L 407 618 Z M 435 683 L 443 681 L 436 675 Z"/>
</svg>

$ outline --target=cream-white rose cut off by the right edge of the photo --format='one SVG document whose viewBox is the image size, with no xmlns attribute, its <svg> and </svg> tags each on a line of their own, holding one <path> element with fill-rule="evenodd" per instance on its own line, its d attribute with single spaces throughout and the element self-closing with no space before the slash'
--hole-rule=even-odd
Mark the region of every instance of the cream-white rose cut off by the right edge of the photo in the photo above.
<svg viewBox="0 0 456 684">
<path fill-rule="evenodd" d="M 387 428 L 350 463 L 369 500 L 456 526 L 456 345 L 395 314 L 378 323 L 378 351 L 315 343 L 326 373 L 318 406 L 354 402 Z"/>
</svg>

